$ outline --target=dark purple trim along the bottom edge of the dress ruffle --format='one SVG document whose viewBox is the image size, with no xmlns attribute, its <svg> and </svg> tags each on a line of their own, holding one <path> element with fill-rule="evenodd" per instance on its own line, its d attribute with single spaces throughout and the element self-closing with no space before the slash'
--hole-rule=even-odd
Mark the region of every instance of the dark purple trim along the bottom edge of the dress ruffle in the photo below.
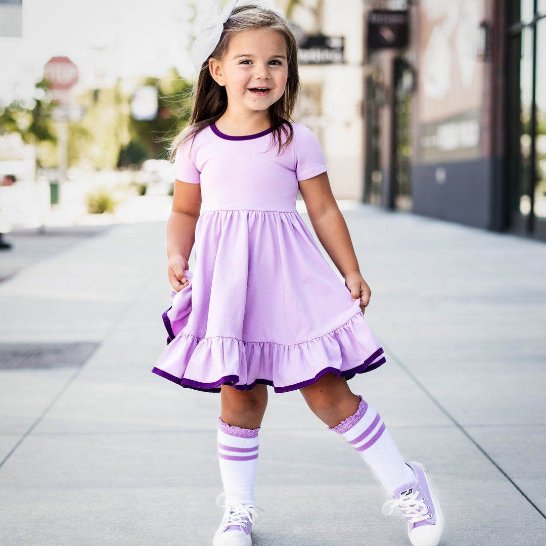
<svg viewBox="0 0 546 546">
<path fill-rule="evenodd" d="M 192 379 L 181 379 L 180 377 L 171 375 L 170 373 L 160 370 L 157 367 L 153 368 L 152 373 L 157 373 L 158 376 L 169 379 L 169 381 L 181 385 L 181 387 L 194 390 L 202 390 L 207 393 L 219 393 L 221 385 L 230 385 L 235 390 L 251 390 L 256 387 L 256 385 L 269 385 L 269 387 L 274 388 L 276 393 L 288 393 L 291 390 L 298 390 L 303 387 L 307 387 L 307 385 L 312 385 L 327 373 L 335 373 L 337 377 L 352 379 L 355 375 L 357 375 L 357 373 L 366 373 L 375 370 L 387 361 L 385 357 L 383 357 L 377 362 L 373 362 L 381 354 L 383 354 L 383 349 L 379 347 L 375 353 L 373 353 L 369 358 L 364 361 L 363 364 L 360 364 L 359 366 L 354 367 L 351 370 L 346 370 L 342 372 L 340 370 L 337 370 L 336 368 L 324 368 L 323 370 L 319 371 L 317 375 L 314 376 L 312 379 L 307 379 L 307 381 L 295 383 L 294 385 L 288 385 L 287 387 L 275 387 L 273 382 L 269 379 L 256 379 L 256 381 L 248 385 L 237 385 L 236 383 L 239 381 L 238 376 L 225 376 L 221 379 L 218 379 L 218 381 L 214 383 L 200 383 L 198 381 L 193 381 Z"/>
</svg>

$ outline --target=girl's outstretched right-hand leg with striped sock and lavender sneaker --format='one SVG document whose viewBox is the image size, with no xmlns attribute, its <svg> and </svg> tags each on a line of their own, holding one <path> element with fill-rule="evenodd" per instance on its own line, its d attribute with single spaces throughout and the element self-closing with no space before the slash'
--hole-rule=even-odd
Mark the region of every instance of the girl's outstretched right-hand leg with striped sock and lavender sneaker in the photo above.
<svg viewBox="0 0 546 546">
<path fill-rule="evenodd" d="M 411 543 L 437 546 L 444 519 L 430 477 L 423 465 L 402 459 L 377 411 L 333 373 L 302 388 L 301 393 L 313 413 L 345 438 L 394 498 L 385 503 L 383 512 L 399 507 L 406 517 Z"/>
</svg>

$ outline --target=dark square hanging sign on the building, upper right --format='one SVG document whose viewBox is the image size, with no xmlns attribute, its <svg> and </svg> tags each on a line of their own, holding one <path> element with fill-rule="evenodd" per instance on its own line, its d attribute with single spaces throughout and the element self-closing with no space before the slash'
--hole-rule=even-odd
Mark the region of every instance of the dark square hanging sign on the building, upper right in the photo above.
<svg viewBox="0 0 546 546">
<path fill-rule="evenodd" d="M 406 10 L 374 9 L 368 14 L 368 49 L 405 48 L 409 19 Z"/>
</svg>

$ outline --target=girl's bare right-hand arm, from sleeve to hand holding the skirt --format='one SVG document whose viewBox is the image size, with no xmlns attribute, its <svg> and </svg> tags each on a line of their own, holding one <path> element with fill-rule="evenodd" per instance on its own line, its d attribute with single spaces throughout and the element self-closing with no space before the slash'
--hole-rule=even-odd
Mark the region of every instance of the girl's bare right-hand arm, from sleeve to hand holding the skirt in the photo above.
<svg viewBox="0 0 546 546">
<path fill-rule="evenodd" d="M 364 312 L 370 302 L 371 290 L 360 274 L 351 235 L 334 199 L 328 174 L 302 180 L 299 187 L 318 240 L 345 278 L 345 286 L 351 290 L 353 301 L 360 299 L 360 308 Z"/>
</svg>

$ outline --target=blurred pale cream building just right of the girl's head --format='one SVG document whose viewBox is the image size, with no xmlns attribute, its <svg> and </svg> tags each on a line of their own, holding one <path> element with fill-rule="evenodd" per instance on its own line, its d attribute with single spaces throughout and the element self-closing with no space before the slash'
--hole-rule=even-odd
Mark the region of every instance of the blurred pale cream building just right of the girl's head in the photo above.
<svg viewBox="0 0 546 546">
<path fill-rule="evenodd" d="M 290 14 L 301 78 L 294 119 L 320 141 L 338 199 L 361 200 L 364 187 L 364 11 L 363 0 L 302 0 Z"/>
</svg>

